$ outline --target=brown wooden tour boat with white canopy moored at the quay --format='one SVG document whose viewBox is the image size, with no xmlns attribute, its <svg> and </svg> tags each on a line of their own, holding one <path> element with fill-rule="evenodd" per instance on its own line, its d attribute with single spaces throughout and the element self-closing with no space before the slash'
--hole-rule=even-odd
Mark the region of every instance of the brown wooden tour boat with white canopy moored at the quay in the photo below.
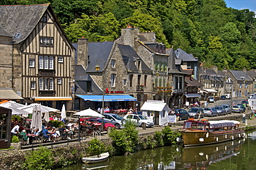
<svg viewBox="0 0 256 170">
<path fill-rule="evenodd" d="M 235 120 L 188 120 L 184 122 L 180 132 L 185 147 L 215 144 L 244 138 L 246 134 L 239 124 L 240 122 Z"/>
</svg>

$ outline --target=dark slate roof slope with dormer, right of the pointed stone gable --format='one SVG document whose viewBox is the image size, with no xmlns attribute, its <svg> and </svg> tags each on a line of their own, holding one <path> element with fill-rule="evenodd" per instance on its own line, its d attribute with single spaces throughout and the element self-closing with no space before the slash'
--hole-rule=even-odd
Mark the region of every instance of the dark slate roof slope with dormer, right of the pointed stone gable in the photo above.
<svg viewBox="0 0 256 170">
<path fill-rule="evenodd" d="M 152 71 L 145 62 L 138 56 L 134 48 L 127 45 L 118 44 L 118 48 L 120 49 L 120 53 L 122 55 L 122 59 L 125 62 L 125 66 L 127 70 L 138 70 L 134 59 L 140 60 L 141 62 L 141 70 L 150 70 Z"/>
</svg>

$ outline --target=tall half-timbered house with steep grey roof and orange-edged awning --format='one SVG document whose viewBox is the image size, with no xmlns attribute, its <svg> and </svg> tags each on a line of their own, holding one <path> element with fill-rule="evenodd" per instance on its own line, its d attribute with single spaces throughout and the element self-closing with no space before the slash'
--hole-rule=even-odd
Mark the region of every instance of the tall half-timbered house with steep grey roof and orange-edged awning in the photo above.
<svg viewBox="0 0 256 170">
<path fill-rule="evenodd" d="M 28 102 L 71 110 L 75 48 L 50 4 L 0 6 L 0 16 L 0 35 L 12 37 L 6 59 L 14 91 Z"/>
</svg>

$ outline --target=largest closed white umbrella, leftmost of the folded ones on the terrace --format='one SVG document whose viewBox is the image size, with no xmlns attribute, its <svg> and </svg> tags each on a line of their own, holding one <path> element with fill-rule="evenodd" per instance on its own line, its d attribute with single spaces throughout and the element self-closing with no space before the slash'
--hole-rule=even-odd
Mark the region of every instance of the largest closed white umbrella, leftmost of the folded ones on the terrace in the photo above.
<svg viewBox="0 0 256 170">
<path fill-rule="evenodd" d="M 41 106 L 33 106 L 33 115 L 32 115 L 32 121 L 31 121 L 31 128 L 36 129 L 38 128 L 39 131 L 42 131 L 42 112 L 41 112 Z"/>
</svg>

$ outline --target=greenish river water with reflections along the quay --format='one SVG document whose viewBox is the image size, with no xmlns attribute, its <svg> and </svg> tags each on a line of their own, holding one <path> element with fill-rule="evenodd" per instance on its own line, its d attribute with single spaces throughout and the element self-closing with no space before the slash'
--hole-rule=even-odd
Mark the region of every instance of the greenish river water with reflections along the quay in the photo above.
<svg viewBox="0 0 256 170">
<path fill-rule="evenodd" d="M 204 147 L 160 147 L 113 156 L 100 164 L 75 164 L 62 170 L 256 169 L 256 131 L 248 138 Z M 55 169 L 56 170 L 56 169 Z M 57 169 L 60 170 L 60 169 Z"/>
</svg>

